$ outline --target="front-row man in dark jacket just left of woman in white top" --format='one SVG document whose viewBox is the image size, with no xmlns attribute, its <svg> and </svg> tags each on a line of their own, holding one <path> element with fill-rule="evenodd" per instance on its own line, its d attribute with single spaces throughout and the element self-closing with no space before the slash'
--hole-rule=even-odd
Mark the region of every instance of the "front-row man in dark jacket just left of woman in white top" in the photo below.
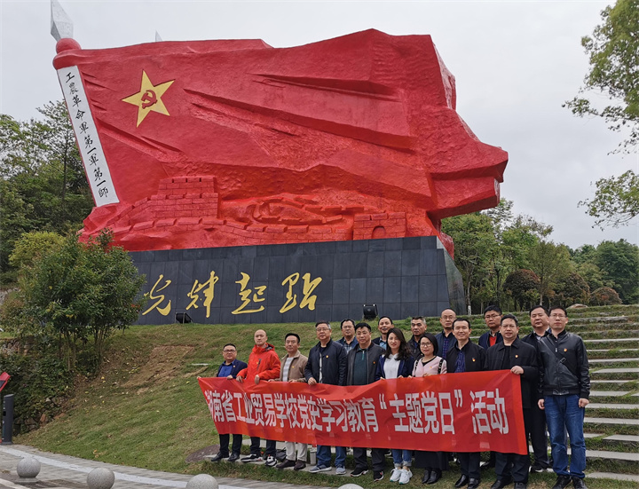
<svg viewBox="0 0 639 489">
<path fill-rule="evenodd" d="M 355 337 L 358 345 L 348 355 L 346 385 L 374 383 L 377 364 L 386 350 L 372 342 L 371 327 L 367 323 L 361 322 L 355 325 Z M 385 452 L 381 448 L 373 448 L 371 450 L 373 480 L 375 481 L 383 479 Z M 359 477 L 366 474 L 368 471 L 366 448 L 353 447 L 353 459 L 355 460 L 355 469 L 351 472 L 351 477 Z"/>
</svg>

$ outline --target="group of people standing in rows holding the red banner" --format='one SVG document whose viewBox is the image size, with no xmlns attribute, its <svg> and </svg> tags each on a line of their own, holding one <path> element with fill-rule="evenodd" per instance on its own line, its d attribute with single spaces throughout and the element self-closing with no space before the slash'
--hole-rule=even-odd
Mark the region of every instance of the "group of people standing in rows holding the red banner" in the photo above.
<svg viewBox="0 0 639 489">
<path fill-rule="evenodd" d="M 478 343 L 470 340 L 472 328 L 468 319 L 457 318 L 451 309 L 441 312 L 442 330 L 437 335 L 427 332 L 425 319 L 411 319 L 412 336 L 406 341 L 401 329 L 390 318 L 379 319 L 380 335 L 372 337 L 372 328 L 366 322 L 355 323 L 344 319 L 340 325 L 343 337 L 332 339 L 332 327 L 327 321 L 315 325 L 318 343 L 308 357 L 299 351 L 300 337 L 288 333 L 284 339 L 286 354 L 281 358 L 268 343 L 264 330 L 257 330 L 255 346 L 248 364 L 237 359 L 233 343 L 224 347 L 224 363 L 218 377 L 238 382 L 304 382 L 309 385 L 367 385 L 399 377 L 447 375 L 485 370 L 510 370 L 521 379 L 522 407 L 526 439 L 533 446 L 534 461 L 529 455 L 491 453 L 489 461 L 480 464 L 479 453 L 457 453 L 461 477 L 456 488 L 468 486 L 476 489 L 481 480 L 481 469 L 494 467 L 497 480 L 491 489 L 515 484 L 525 489 L 530 472 L 542 472 L 552 466 L 556 473 L 553 489 L 564 489 L 572 482 L 575 489 L 585 489 L 586 445 L 583 436 L 585 407 L 588 405 L 590 379 L 588 355 L 580 336 L 565 330 L 568 314 L 563 307 L 541 305 L 530 311 L 533 332 L 519 338 L 517 317 L 502 314 L 498 306 L 489 306 L 484 312 L 488 331 Z M 548 434 L 551 458 L 548 458 Z M 572 454 L 567 453 L 566 433 L 570 438 Z M 233 435 L 229 451 L 229 435 L 220 435 L 220 450 L 213 461 L 240 459 L 241 435 Z M 400 445 L 400 444 L 399 444 Z M 306 467 L 307 446 L 286 442 L 286 459 L 278 463 L 275 441 L 266 441 L 265 460 L 260 439 L 251 437 L 250 454 L 243 462 L 264 461 L 278 469 Z M 366 448 L 353 447 L 355 467 L 351 477 L 367 473 Z M 371 450 L 373 479 L 384 477 L 387 450 Z M 394 469 L 390 481 L 407 484 L 413 477 L 413 468 L 424 469 L 423 484 L 435 484 L 448 469 L 452 454 L 440 451 L 403 450 L 390 447 Z M 335 446 L 335 473 L 345 474 L 346 447 Z M 331 469 L 331 447 L 317 447 L 317 464 L 310 472 Z"/>
</svg>

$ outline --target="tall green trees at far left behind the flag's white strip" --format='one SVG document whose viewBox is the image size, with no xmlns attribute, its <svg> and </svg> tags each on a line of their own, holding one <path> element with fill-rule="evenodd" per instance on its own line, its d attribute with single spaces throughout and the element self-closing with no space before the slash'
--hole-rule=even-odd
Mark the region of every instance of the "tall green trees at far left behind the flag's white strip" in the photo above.
<svg viewBox="0 0 639 489">
<path fill-rule="evenodd" d="M 63 102 L 40 109 L 41 120 L 0 114 L 0 280 L 16 279 L 9 263 L 22 233 L 75 232 L 93 206 Z"/>
</svg>

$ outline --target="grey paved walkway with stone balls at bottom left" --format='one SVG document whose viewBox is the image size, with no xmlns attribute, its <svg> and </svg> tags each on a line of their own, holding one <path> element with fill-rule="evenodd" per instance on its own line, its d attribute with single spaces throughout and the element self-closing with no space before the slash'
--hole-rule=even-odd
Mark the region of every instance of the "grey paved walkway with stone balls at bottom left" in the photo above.
<svg viewBox="0 0 639 489">
<path fill-rule="evenodd" d="M 27 456 L 40 461 L 40 473 L 28 481 L 18 477 L 18 462 Z M 111 469 L 115 474 L 114 489 L 182 489 L 193 476 L 138 469 L 102 461 L 84 460 L 67 455 L 41 452 L 32 446 L 0 445 L 0 488 L 12 489 L 86 489 L 86 477 L 99 467 Z M 311 485 L 292 485 L 247 479 L 216 477 L 220 489 L 322 489 Z"/>
</svg>

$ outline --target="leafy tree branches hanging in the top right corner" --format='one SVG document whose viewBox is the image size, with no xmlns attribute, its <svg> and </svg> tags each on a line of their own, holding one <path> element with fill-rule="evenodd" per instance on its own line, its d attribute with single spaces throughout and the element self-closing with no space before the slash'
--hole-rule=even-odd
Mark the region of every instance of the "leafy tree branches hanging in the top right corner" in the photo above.
<svg viewBox="0 0 639 489">
<path fill-rule="evenodd" d="M 603 117 L 611 130 L 629 130 L 619 146 L 639 143 L 639 0 L 618 0 L 601 12 L 603 23 L 581 39 L 590 70 L 580 95 L 565 103 L 572 114 Z M 607 95 L 611 105 L 593 106 L 581 95 L 587 91 Z"/>
</svg>

